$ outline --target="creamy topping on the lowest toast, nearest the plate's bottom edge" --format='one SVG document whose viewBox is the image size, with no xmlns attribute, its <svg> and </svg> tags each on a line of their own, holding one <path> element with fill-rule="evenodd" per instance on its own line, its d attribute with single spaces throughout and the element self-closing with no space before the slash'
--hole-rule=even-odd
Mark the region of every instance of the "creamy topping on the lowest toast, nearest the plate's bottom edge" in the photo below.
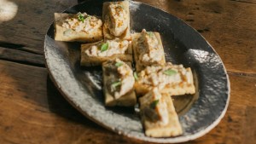
<svg viewBox="0 0 256 144">
<path fill-rule="evenodd" d="M 161 125 L 169 123 L 169 113 L 166 101 L 162 99 L 159 89 L 154 88 L 141 101 L 144 114 L 153 122 L 157 122 Z"/>
</svg>

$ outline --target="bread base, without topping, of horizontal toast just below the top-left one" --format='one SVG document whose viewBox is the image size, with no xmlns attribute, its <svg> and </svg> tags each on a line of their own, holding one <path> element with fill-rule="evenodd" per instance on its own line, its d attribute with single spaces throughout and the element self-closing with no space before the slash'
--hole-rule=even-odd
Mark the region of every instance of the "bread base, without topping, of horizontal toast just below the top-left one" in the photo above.
<svg viewBox="0 0 256 144">
<path fill-rule="evenodd" d="M 107 60 L 113 60 L 118 58 L 124 61 L 132 61 L 132 49 L 131 43 L 129 42 L 128 48 L 125 50 L 125 54 L 114 54 L 111 56 L 90 56 L 86 54 L 86 50 L 90 49 L 93 45 L 101 45 L 103 41 L 96 43 L 84 43 L 81 45 L 81 66 L 99 66 L 102 65 L 102 62 Z"/>
</svg>

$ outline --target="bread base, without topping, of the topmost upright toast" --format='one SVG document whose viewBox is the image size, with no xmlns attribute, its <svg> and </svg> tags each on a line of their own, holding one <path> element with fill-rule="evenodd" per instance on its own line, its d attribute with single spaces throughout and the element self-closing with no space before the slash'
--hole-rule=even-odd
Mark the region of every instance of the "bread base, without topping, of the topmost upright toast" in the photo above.
<svg viewBox="0 0 256 144">
<path fill-rule="evenodd" d="M 109 9 L 108 6 L 111 3 L 118 3 L 122 9 L 125 10 L 126 12 L 126 17 L 127 17 L 127 28 L 125 29 L 125 32 L 123 32 L 120 36 L 115 36 L 113 33 L 109 31 L 109 26 L 108 26 L 108 20 L 109 18 Z M 103 20 L 103 35 L 105 39 L 114 39 L 116 37 L 119 37 L 120 39 L 126 39 L 126 40 L 131 40 L 131 32 L 130 32 L 130 9 L 129 9 L 129 1 L 121 1 L 121 2 L 105 2 L 103 3 L 103 9 L 102 9 L 102 20 Z"/>
</svg>

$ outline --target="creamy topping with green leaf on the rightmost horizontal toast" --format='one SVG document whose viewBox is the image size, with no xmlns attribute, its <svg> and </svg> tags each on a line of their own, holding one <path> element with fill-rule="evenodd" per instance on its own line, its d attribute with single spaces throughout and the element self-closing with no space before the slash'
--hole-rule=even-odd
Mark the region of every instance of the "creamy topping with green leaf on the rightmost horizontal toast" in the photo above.
<svg viewBox="0 0 256 144">
<path fill-rule="evenodd" d="M 139 73 L 138 83 L 148 84 L 152 87 L 163 89 L 166 84 L 191 84 L 191 73 L 187 72 L 182 65 L 172 65 L 166 63 L 166 66 L 147 66 Z"/>
</svg>

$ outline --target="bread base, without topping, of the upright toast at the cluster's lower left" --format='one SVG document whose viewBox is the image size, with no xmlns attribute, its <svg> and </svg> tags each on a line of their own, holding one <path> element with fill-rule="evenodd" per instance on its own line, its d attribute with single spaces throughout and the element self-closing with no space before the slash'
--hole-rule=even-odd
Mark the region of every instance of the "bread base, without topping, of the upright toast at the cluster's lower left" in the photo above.
<svg viewBox="0 0 256 144">
<path fill-rule="evenodd" d="M 110 75 L 113 75 L 114 73 L 111 73 L 107 70 L 106 65 L 107 62 L 102 63 L 102 71 L 103 71 L 103 92 L 105 95 L 105 105 L 108 107 L 114 107 L 114 106 L 121 106 L 121 107 L 131 107 L 135 106 L 137 103 L 137 96 L 135 94 L 134 89 L 131 89 L 129 92 L 127 92 L 125 95 L 121 95 L 119 98 L 115 98 L 111 93 L 108 91 L 107 84 L 110 79 Z M 126 62 L 128 66 L 131 67 L 130 62 Z"/>
</svg>

